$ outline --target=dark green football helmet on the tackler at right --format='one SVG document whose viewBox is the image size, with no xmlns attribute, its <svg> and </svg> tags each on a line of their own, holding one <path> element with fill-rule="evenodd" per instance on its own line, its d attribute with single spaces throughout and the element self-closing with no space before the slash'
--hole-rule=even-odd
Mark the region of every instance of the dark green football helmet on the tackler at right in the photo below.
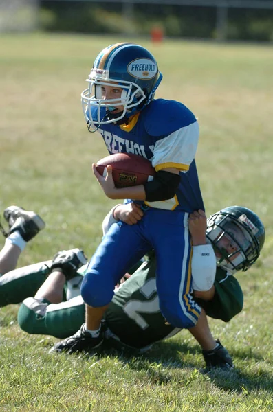
<svg viewBox="0 0 273 412">
<path fill-rule="evenodd" d="M 259 258 L 265 228 L 254 211 L 230 206 L 208 218 L 206 237 L 215 250 L 217 266 L 231 272 L 247 271 Z"/>
</svg>

